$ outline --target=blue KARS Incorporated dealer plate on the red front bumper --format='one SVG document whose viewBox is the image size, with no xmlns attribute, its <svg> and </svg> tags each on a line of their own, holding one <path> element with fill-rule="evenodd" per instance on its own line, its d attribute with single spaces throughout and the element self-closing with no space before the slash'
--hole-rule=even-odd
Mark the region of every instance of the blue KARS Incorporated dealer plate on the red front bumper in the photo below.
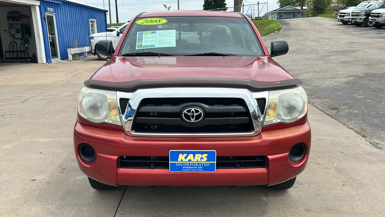
<svg viewBox="0 0 385 217">
<path fill-rule="evenodd" d="M 170 172 L 215 172 L 216 151 L 170 150 Z"/>
</svg>

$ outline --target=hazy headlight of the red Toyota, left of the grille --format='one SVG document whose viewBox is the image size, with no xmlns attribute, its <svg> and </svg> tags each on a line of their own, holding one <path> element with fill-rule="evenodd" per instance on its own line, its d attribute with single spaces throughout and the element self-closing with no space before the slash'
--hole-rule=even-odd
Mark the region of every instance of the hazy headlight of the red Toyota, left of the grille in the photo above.
<svg viewBox="0 0 385 217">
<path fill-rule="evenodd" d="M 116 103 L 116 92 L 84 86 L 77 96 L 77 111 L 84 119 L 95 124 L 122 125 Z"/>
</svg>

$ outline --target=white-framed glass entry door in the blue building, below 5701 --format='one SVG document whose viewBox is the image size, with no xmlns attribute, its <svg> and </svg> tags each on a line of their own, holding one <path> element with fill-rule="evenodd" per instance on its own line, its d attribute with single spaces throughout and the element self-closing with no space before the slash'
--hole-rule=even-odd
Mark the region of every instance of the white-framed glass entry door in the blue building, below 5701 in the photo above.
<svg viewBox="0 0 385 217">
<path fill-rule="evenodd" d="M 48 41 L 50 46 L 51 61 L 60 59 L 59 43 L 57 41 L 56 19 L 55 14 L 45 13 L 47 20 Z"/>
</svg>

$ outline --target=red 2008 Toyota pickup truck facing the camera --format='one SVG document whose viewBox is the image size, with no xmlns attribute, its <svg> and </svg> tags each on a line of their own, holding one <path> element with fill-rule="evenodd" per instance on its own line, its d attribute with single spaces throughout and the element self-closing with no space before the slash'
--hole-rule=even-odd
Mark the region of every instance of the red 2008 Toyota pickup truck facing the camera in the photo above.
<svg viewBox="0 0 385 217">
<path fill-rule="evenodd" d="M 186 33 L 196 39 L 178 40 Z M 141 13 L 116 50 L 109 40 L 95 49 L 110 59 L 84 82 L 74 128 L 93 188 L 288 189 L 305 169 L 307 96 L 272 59 L 288 44 L 272 41 L 269 54 L 244 14 Z"/>
</svg>

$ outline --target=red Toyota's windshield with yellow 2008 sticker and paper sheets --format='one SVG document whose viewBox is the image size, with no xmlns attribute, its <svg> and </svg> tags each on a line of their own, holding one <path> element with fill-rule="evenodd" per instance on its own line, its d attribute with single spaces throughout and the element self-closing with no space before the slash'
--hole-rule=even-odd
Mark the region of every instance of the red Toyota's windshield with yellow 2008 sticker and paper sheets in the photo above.
<svg viewBox="0 0 385 217">
<path fill-rule="evenodd" d="M 264 56 L 248 20 L 236 17 L 138 18 L 119 55 Z"/>
</svg>

